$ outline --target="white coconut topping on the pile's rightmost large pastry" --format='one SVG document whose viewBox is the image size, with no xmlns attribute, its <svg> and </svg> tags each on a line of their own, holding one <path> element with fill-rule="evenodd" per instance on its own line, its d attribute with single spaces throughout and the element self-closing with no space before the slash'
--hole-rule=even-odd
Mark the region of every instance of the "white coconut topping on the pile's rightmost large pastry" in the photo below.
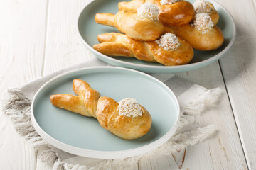
<svg viewBox="0 0 256 170">
<path fill-rule="evenodd" d="M 198 30 L 202 30 L 202 34 L 205 34 L 208 29 L 213 28 L 214 24 L 207 13 L 196 13 L 193 26 Z"/>
</svg>

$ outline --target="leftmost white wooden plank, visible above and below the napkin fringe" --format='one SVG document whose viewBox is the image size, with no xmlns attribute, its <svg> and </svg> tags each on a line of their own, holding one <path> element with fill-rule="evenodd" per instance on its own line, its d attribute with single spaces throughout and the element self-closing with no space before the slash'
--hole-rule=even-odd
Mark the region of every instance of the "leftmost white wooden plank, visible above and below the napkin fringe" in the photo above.
<svg viewBox="0 0 256 170">
<path fill-rule="evenodd" d="M 46 1 L 0 1 L 1 92 L 41 76 L 45 19 Z M 0 169 L 35 169 L 35 152 L 3 114 L 0 136 Z"/>
</svg>

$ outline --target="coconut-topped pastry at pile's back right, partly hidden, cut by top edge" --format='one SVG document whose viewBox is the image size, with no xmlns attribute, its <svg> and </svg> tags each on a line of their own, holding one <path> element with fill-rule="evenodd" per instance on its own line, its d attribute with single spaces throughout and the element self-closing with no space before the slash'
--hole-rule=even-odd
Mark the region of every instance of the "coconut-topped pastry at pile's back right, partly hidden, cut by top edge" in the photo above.
<svg viewBox="0 0 256 170">
<path fill-rule="evenodd" d="M 218 11 L 215 10 L 213 4 L 205 0 L 196 0 L 193 3 L 196 13 L 208 13 L 214 25 L 217 25 L 220 16 Z"/>
</svg>

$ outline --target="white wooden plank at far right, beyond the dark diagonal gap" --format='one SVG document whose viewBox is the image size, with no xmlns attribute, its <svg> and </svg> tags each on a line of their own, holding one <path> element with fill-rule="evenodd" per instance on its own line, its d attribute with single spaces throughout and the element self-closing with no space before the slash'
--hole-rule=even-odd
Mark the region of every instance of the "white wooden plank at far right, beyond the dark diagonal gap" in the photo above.
<svg viewBox="0 0 256 170">
<path fill-rule="evenodd" d="M 256 169 L 256 1 L 221 1 L 232 14 L 237 38 L 220 60 L 230 103 L 250 169 Z M 239 6 L 239 8 L 238 8 Z"/>
</svg>

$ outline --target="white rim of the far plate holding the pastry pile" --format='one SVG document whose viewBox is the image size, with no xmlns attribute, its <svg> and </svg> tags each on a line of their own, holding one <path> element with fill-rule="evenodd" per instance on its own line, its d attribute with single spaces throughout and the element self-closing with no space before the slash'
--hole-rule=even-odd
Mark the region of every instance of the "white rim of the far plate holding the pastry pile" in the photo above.
<svg viewBox="0 0 256 170">
<path fill-rule="evenodd" d="M 200 68 L 200 67 L 204 67 L 208 64 L 210 64 L 211 62 L 214 62 L 215 60 L 218 60 L 220 59 L 220 57 L 222 57 L 229 49 L 230 47 L 233 45 L 233 43 L 235 42 L 235 37 L 236 37 L 236 27 L 235 27 L 235 21 L 233 19 L 233 17 L 231 16 L 231 14 L 227 11 L 226 8 L 224 8 L 222 5 L 220 5 L 218 2 L 216 1 L 213 1 L 213 0 L 208 0 L 210 2 L 213 2 L 215 4 L 218 4 L 218 6 L 220 6 L 221 8 L 223 8 L 223 10 L 225 11 L 225 13 L 228 14 L 228 16 L 231 18 L 231 21 L 232 21 L 232 25 L 233 25 L 233 36 L 230 40 L 230 42 L 228 43 L 227 47 L 225 47 L 220 53 L 218 53 L 218 55 L 215 55 L 213 57 L 210 57 L 209 59 L 207 60 L 203 60 L 201 62 L 196 62 L 196 63 L 191 63 L 191 64 L 183 64 L 183 65 L 178 65 L 178 66 L 151 66 L 151 65 L 145 65 L 145 64 L 137 64 L 137 63 L 132 63 L 132 62 L 124 62 L 122 60 L 117 60 L 115 59 L 114 57 L 109 57 L 107 55 L 103 55 L 102 53 L 98 52 L 97 50 L 95 50 L 93 47 L 91 47 L 89 44 L 87 44 L 87 42 L 82 38 L 82 35 L 80 33 L 80 29 L 79 29 L 79 21 L 80 21 L 80 16 L 82 15 L 83 11 L 85 11 L 85 9 L 87 8 L 87 6 L 89 6 L 90 4 L 92 4 L 93 2 L 95 2 L 97 0 L 92 0 L 90 1 L 90 3 L 88 3 L 83 9 L 82 11 L 80 11 L 79 15 L 78 15 L 78 21 L 77 21 L 77 33 L 78 33 L 78 37 L 80 38 L 80 40 L 82 41 L 82 43 L 85 45 L 85 47 L 87 47 L 87 49 L 90 51 L 90 52 L 93 52 L 95 53 L 96 57 L 99 58 L 100 60 L 110 60 L 111 62 L 115 62 L 116 64 L 122 64 L 122 67 L 129 67 L 129 68 L 137 68 L 139 67 L 138 70 L 141 70 L 142 69 L 152 69 L 151 71 L 154 71 L 153 69 L 161 69 L 161 70 L 166 70 L 166 71 L 174 71 L 175 69 L 184 69 L 184 68 L 187 68 L 186 70 L 183 70 L 183 71 L 178 71 L 178 72 L 186 72 L 188 70 L 192 70 L 192 69 L 196 69 L 195 67 L 197 68 Z M 100 56 L 100 57 L 98 57 Z M 103 59 L 102 59 L 103 58 Z M 105 60 L 104 60 L 105 59 Z M 108 62 L 107 62 L 108 63 Z M 110 63 L 109 63 L 110 64 Z M 111 64 L 113 65 L 113 64 Z M 152 72 L 154 73 L 154 72 Z M 164 73 L 164 72 L 163 72 Z M 167 72 L 166 72 L 167 73 Z"/>
</svg>

